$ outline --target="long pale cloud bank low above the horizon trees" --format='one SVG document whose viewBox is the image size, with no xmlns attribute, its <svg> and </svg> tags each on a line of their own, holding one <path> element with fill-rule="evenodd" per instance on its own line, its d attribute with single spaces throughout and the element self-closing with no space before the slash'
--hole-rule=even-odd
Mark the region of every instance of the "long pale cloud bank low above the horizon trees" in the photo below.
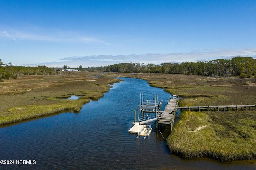
<svg viewBox="0 0 256 170">
<path fill-rule="evenodd" d="M 99 67 L 113 65 L 116 63 L 182 63 L 210 61 L 214 59 L 231 59 L 236 56 L 253 57 L 256 59 L 256 48 L 246 49 L 200 49 L 183 53 L 170 54 L 132 54 L 132 55 L 98 55 L 98 56 L 72 56 L 59 59 L 60 62 L 54 63 L 38 63 L 49 67 L 69 65 L 70 67 Z"/>
</svg>

